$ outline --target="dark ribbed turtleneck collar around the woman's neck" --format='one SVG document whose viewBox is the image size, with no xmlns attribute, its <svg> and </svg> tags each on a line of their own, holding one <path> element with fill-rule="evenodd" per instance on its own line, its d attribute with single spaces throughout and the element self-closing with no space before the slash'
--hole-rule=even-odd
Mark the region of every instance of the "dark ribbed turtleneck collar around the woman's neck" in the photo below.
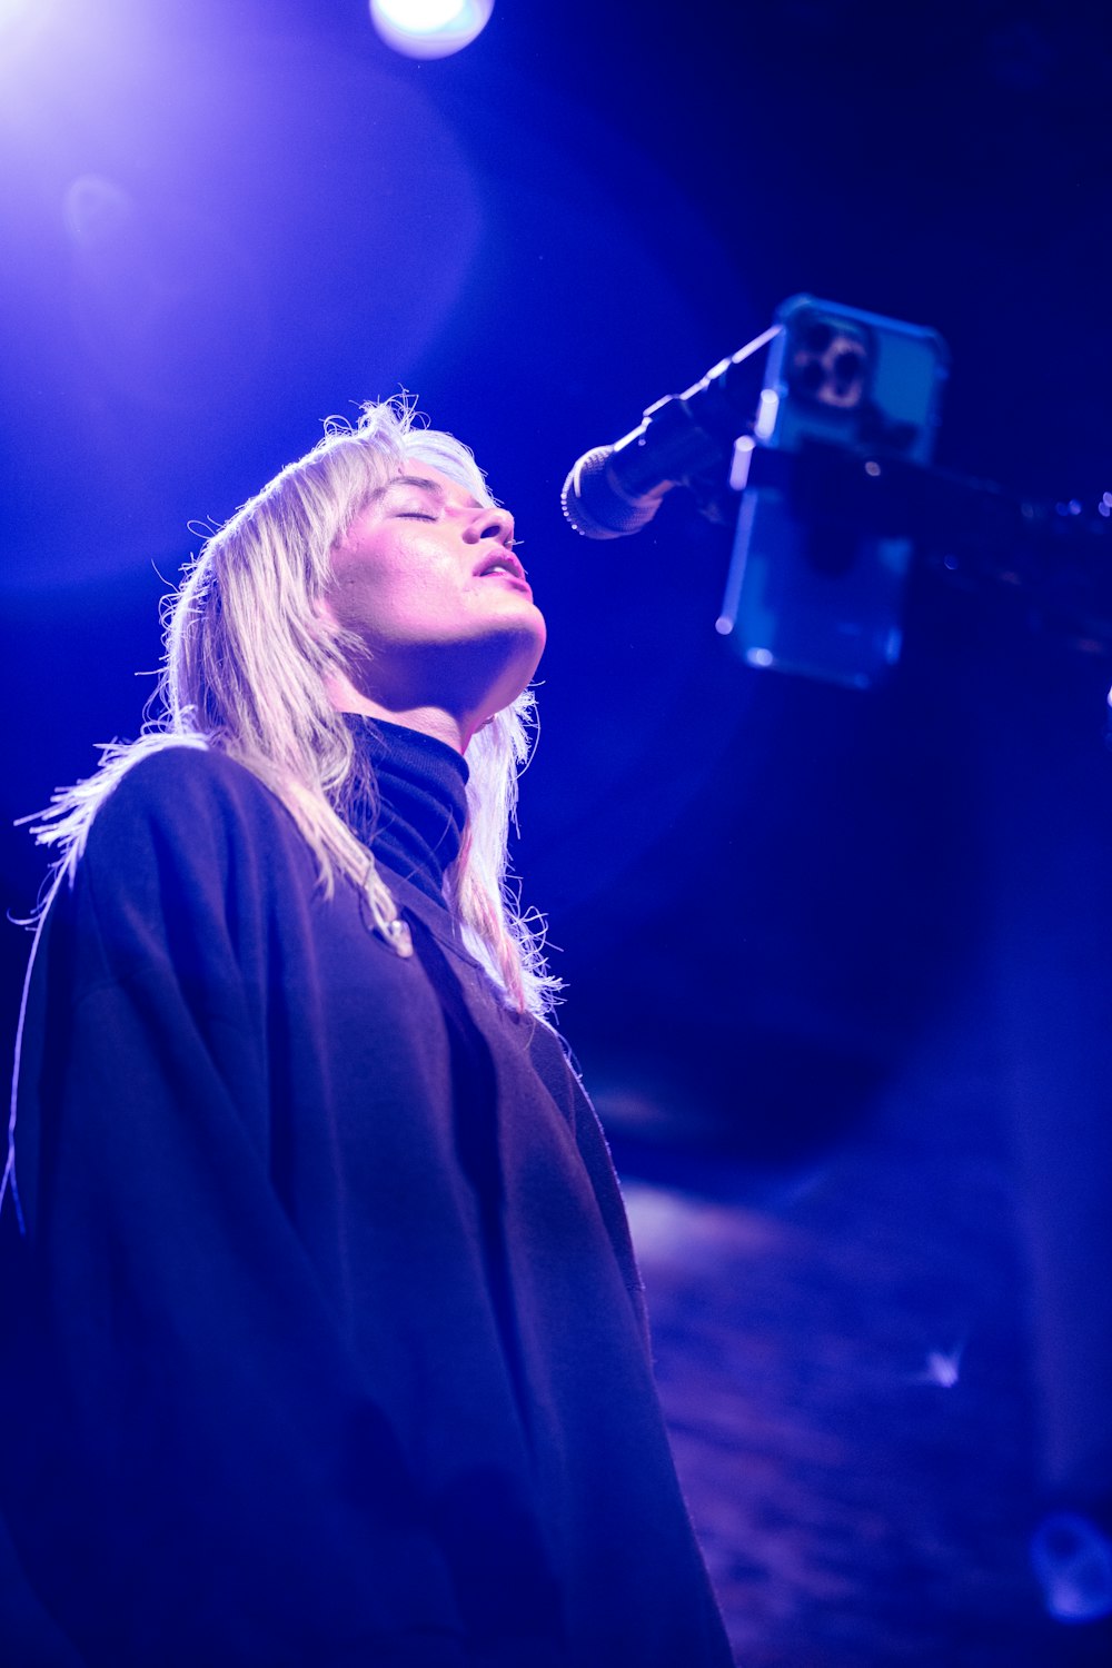
<svg viewBox="0 0 1112 1668">
<path fill-rule="evenodd" d="M 467 821 L 467 762 L 423 731 L 345 712 L 362 784 L 347 806 L 358 839 L 425 897 L 443 904 L 443 872 L 460 854 Z M 373 784 L 377 782 L 377 792 Z"/>
</svg>

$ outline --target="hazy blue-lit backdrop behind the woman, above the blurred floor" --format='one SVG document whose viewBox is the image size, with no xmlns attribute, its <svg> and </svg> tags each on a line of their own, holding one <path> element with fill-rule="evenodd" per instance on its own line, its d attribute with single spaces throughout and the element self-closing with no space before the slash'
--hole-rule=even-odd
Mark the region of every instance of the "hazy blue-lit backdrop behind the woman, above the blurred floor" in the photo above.
<svg viewBox="0 0 1112 1668">
<path fill-rule="evenodd" d="M 360 0 L 0 20 L 8 911 L 42 877 L 12 819 L 135 734 L 203 525 L 328 414 L 413 392 L 515 510 L 548 617 L 517 866 L 624 1174 L 775 1213 L 892 1128 L 975 1149 L 1032 1513 L 1112 1488 L 1112 634 L 924 575 L 885 689 L 754 672 L 714 632 L 724 529 L 675 492 L 590 544 L 559 489 L 809 290 L 945 337 L 942 464 L 1099 524 L 1102 13 L 500 0 L 425 63 Z"/>
</svg>

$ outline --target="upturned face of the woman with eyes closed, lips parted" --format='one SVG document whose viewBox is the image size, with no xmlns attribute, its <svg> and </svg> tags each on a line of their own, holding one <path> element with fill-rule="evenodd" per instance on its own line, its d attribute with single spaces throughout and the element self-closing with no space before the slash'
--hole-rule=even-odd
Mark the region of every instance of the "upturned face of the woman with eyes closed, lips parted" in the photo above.
<svg viewBox="0 0 1112 1668">
<path fill-rule="evenodd" d="M 475 726 L 517 699 L 545 646 L 513 517 L 417 460 L 333 549 L 325 609 L 365 649 L 362 694 L 390 711 L 465 707 Z"/>
</svg>

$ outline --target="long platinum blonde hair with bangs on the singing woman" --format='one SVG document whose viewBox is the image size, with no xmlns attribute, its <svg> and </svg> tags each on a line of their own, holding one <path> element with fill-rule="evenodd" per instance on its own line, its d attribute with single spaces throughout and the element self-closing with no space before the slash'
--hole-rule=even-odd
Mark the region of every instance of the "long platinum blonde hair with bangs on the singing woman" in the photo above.
<svg viewBox="0 0 1112 1668">
<path fill-rule="evenodd" d="M 80 857 L 97 807 L 132 764 L 167 746 L 213 747 L 282 799 L 313 851 L 325 894 L 337 879 L 352 884 L 375 929 L 407 952 L 390 887 L 342 816 L 358 764 L 325 684 L 343 671 L 347 646 L 317 607 L 337 540 L 407 460 L 438 469 L 493 507 L 468 447 L 423 427 L 408 402 L 388 400 L 365 405 L 357 424 L 330 419 L 312 452 L 212 534 L 168 599 L 163 671 L 143 734 L 107 747 L 95 776 L 55 794 L 33 827 L 58 851 L 58 882 Z M 527 691 L 473 736 L 467 827 L 445 889 L 467 947 L 510 1006 L 543 1014 L 559 981 L 545 966 L 540 922 L 520 912 L 507 884 L 508 827 L 532 721 Z M 360 786 L 375 787 L 365 779 Z"/>
</svg>

